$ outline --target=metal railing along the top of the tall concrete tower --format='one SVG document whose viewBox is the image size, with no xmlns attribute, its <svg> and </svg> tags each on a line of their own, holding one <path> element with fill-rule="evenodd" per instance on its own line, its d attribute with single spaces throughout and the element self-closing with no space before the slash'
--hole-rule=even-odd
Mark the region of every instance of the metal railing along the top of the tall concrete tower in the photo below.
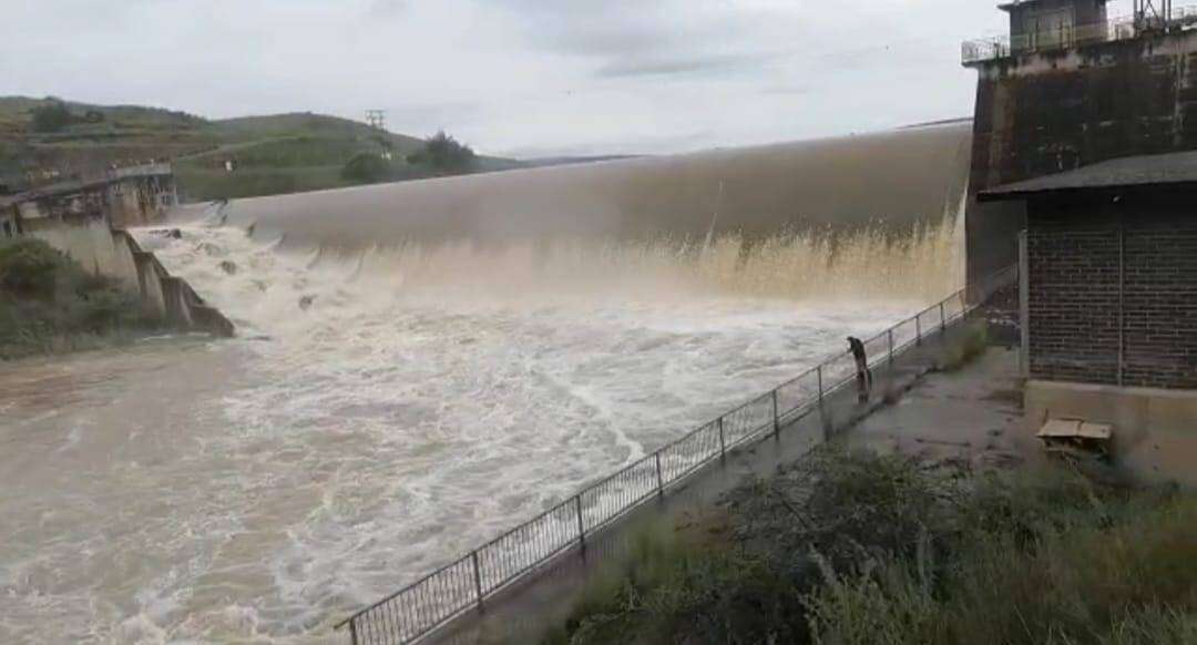
<svg viewBox="0 0 1197 645">
<path fill-rule="evenodd" d="M 991 36 L 966 41 L 960 48 L 964 65 L 1007 59 L 1017 54 L 1055 51 L 1076 45 L 1129 41 L 1147 32 L 1161 32 L 1171 28 L 1197 24 L 1197 6 L 1173 7 L 1167 19 L 1147 16 L 1119 16 L 1102 23 L 1087 25 L 1061 25 L 1020 34 L 1019 36 Z"/>
</svg>

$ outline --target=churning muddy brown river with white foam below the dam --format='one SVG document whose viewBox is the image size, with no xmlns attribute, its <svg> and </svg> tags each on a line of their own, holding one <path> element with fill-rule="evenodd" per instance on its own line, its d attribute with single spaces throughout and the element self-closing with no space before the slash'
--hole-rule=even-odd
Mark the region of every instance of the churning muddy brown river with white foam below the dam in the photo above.
<svg viewBox="0 0 1197 645">
<path fill-rule="evenodd" d="M 836 236 L 421 241 L 378 218 L 321 244 L 279 201 L 133 231 L 238 336 L 0 366 L 0 641 L 324 641 L 956 288 L 959 195 L 924 191 L 931 212 Z"/>
</svg>

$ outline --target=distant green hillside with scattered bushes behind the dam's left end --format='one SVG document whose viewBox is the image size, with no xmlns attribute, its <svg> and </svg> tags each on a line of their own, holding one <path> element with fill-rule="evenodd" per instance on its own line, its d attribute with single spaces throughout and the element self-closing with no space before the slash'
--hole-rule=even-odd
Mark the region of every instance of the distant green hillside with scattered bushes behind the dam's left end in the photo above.
<svg viewBox="0 0 1197 645">
<path fill-rule="evenodd" d="M 342 169 L 363 153 L 387 159 L 375 181 L 449 174 L 407 162 L 424 147 L 423 139 L 335 116 L 293 112 L 207 120 L 159 108 L 62 102 L 68 114 L 55 121 L 45 115 L 54 104 L 0 97 L 0 183 L 20 185 L 31 172 L 69 176 L 114 163 L 168 158 L 175 162 L 187 197 L 231 199 L 360 183 L 344 178 Z M 512 159 L 478 157 L 468 171 L 523 166 Z"/>
</svg>

